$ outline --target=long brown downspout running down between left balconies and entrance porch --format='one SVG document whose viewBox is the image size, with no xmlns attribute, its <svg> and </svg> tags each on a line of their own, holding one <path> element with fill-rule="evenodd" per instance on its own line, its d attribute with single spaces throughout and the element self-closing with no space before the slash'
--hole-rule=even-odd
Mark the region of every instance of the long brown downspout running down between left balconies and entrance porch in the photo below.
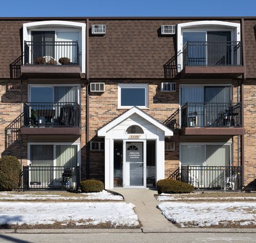
<svg viewBox="0 0 256 243">
<path fill-rule="evenodd" d="M 89 19 L 86 19 L 86 179 L 90 179 Z"/>
</svg>

